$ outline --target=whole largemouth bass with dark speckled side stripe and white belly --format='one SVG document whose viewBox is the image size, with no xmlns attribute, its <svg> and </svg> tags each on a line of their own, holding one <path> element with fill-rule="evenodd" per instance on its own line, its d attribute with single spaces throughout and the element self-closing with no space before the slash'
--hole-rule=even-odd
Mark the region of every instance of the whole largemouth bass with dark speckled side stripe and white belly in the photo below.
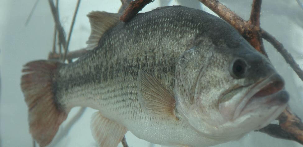
<svg viewBox="0 0 303 147">
<path fill-rule="evenodd" d="M 48 145 L 71 108 L 96 109 L 91 132 L 116 147 L 127 131 L 163 146 L 206 147 L 267 126 L 286 108 L 283 78 L 230 24 L 159 7 L 129 22 L 88 14 L 91 49 L 73 63 L 24 65 L 30 134 Z"/>
</svg>

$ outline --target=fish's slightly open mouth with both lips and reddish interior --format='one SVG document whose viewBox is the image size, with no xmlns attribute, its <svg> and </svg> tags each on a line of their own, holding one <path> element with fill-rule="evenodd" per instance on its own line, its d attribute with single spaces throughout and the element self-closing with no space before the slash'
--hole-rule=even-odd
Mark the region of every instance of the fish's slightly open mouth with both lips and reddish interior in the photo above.
<svg viewBox="0 0 303 147">
<path fill-rule="evenodd" d="M 277 73 L 260 80 L 243 97 L 234 112 L 233 120 L 252 112 L 258 105 L 269 107 L 285 105 L 289 95 L 284 89 L 284 80 Z"/>
</svg>

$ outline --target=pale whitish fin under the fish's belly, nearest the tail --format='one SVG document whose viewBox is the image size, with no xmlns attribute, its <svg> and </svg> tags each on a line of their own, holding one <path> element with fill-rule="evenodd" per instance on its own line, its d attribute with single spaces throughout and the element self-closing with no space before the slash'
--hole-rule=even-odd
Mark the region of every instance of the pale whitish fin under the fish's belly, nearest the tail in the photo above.
<svg viewBox="0 0 303 147">
<path fill-rule="evenodd" d="M 117 147 L 127 131 L 126 127 L 103 117 L 100 112 L 93 114 L 90 128 L 100 147 Z"/>
</svg>

